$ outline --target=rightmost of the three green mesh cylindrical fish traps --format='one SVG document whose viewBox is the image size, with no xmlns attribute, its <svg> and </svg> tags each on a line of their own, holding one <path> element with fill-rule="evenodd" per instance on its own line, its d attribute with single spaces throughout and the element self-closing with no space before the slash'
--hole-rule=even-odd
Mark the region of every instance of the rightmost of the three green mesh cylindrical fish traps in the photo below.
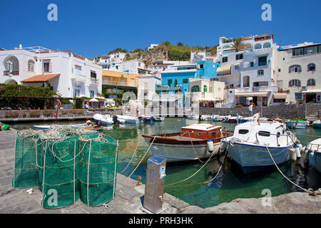
<svg viewBox="0 0 321 228">
<path fill-rule="evenodd" d="M 81 141 L 80 197 L 88 206 L 111 201 L 116 189 L 118 142 L 97 136 Z"/>
</svg>

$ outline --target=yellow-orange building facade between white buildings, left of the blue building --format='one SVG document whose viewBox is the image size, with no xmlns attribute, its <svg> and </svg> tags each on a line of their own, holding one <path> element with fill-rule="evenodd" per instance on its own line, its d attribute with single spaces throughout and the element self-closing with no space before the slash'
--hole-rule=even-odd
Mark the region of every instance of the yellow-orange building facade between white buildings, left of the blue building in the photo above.
<svg viewBox="0 0 321 228">
<path fill-rule="evenodd" d="M 103 85 L 131 86 L 138 88 L 137 73 L 103 70 Z"/>
</svg>

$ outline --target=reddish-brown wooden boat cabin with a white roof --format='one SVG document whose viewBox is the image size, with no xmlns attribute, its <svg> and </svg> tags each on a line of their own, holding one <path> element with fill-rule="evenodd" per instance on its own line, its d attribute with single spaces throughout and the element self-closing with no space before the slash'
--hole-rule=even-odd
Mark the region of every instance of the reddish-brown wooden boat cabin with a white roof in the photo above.
<svg viewBox="0 0 321 228">
<path fill-rule="evenodd" d="M 211 124 L 186 125 L 180 130 L 180 137 L 198 138 L 202 140 L 215 140 L 222 137 L 221 126 Z"/>
</svg>

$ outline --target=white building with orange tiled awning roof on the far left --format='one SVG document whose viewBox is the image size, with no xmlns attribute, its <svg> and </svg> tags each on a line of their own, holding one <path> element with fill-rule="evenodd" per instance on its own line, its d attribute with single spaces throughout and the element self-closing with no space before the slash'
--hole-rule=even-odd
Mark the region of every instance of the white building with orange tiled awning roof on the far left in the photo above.
<svg viewBox="0 0 321 228">
<path fill-rule="evenodd" d="M 50 86 L 65 98 L 101 93 L 101 66 L 71 51 L 14 48 L 0 51 L 0 83 Z"/>
</svg>

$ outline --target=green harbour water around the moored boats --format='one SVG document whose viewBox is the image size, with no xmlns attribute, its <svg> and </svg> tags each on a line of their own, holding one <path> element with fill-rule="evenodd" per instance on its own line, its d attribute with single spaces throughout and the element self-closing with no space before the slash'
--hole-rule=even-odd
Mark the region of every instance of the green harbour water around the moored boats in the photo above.
<svg viewBox="0 0 321 228">
<path fill-rule="evenodd" d="M 77 122 L 61 122 L 60 124 L 76 124 Z M 118 172 L 123 175 L 130 175 L 135 169 L 138 162 L 141 161 L 144 153 L 148 149 L 147 142 L 141 137 L 142 134 L 158 134 L 158 133 L 173 133 L 179 131 L 181 127 L 198 123 L 198 120 L 188 120 L 185 118 L 165 118 L 163 122 L 144 123 L 141 125 L 111 125 L 105 130 L 105 133 L 119 140 L 120 155 L 118 163 Z M 35 124 L 35 123 L 33 123 Z M 36 123 L 37 125 L 49 125 L 50 123 Z M 213 123 L 223 125 L 228 130 L 233 130 L 233 123 Z M 12 128 L 18 130 L 31 127 L 32 124 L 16 124 L 11 125 Z M 297 133 L 297 138 L 302 142 L 302 145 L 307 145 L 307 142 L 321 137 L 321 129 L 308 127 L 306 129 L 294 130 Z M 138 150 L 135 157 L 128 168 L 123 172 L 128 162 L 133 156 L 136 147 Z M 142 182 L 146 180 L 146 164 L 148 158 L 151 157 L 151 152 L 148 152 L 146 157 L 141 162 L 136 172 L 131 178 L 138 180 L 142 177 Z M 220 165 L 223 168 L 218 177 L 210 184 L 203 185 L 202 182 L 211 180 L 218 172 Z M 193 164 L 183 164 L 179 166 L 166 167 L 165 185 L 169 185 L 193 175 L 196 171 L 203 167 L 203 163 L 196 162 Z M 318 189 L 321 187 L 321 174 L 312 168 L 302 169 L 300 165 L 289 161 L 280 167 L 282 172 L 294 181 L 297 185 L 305 188 Z M 165 192 L 178 197 L 189 204 L 197 205 L 198 207 L 213 207 L 222 202 L 230 202 L 237 198 L 259 198 L 262 191 L 269 189 L 272 196 L 282 195 L 288 192 L 299 191 L 295 186 L 287 182 L 277 170 L 267 170 L 265 172 L 256 172 L 251 174 L 243 174 L 229 158 L 217 157 L 208 162 L 197 175 L 185 182 L 177 185 L 169 185 L 165 187 Z"/>
</svg>

